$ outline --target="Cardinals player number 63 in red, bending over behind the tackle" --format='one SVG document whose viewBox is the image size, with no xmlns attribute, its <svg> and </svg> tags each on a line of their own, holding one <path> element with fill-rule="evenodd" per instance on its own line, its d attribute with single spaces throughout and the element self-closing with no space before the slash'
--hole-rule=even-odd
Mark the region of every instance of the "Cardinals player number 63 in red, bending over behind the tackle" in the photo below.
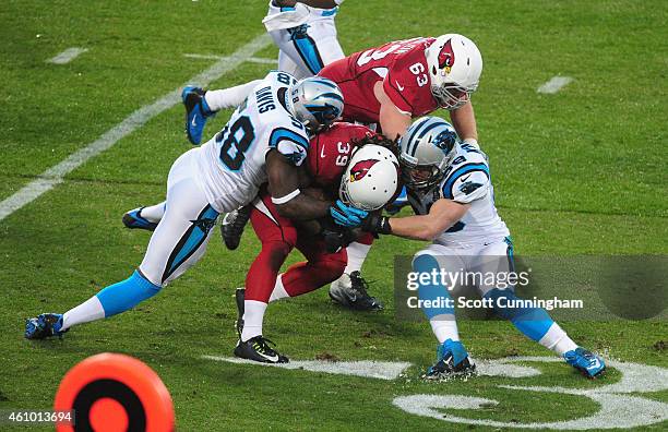
<svg viewBox="0 0 668 432">
<path fill-rule="evenodd" d="M 470 95 L 478 88 L 482 57 L 477 46 L 457 34 L 417 37 L 387 43 L 327 64 L 320 76 L 336 82 L 346 100 L 344 120 L 373 123 L 389 139 L 404 134 L 411 118 L 438 108 L 450 111 L 455 130 L 465 143 L 477 145 Z M 394 207 L 405 203 L 402 195 Z M 249 208 L 227 215 L 223 221 L 225 243 L 239 243 Z M 348 245 L 348 265 L 332 284 L 330 297 L 361 309 L 356 291 L 366 286 L 360 275 L 369 253 L 370 237 Z"/>
</svg>

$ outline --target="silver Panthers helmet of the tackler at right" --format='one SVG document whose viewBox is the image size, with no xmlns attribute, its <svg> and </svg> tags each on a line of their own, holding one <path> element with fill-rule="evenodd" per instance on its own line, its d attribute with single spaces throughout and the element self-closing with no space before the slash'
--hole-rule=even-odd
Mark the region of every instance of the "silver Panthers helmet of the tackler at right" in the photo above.
<svg viewBox="0 0 668 432">
<path fill-rule="evenodd" d="M 399 141 L 402 179 L 410 189 L 437 184 L 454 155 L 457 133 L 439 117 L 417 119 Z"/>
</svg>

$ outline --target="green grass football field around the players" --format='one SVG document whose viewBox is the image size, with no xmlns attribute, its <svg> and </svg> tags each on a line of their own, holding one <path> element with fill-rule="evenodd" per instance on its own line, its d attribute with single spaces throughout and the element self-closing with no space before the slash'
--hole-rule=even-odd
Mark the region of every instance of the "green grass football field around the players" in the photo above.
<svg viewBox="0 0 668 432">
<path fill-rule="evenodd" d="M 4 0 L 0 201 L 215 62 L 184 53 L 228 56 L 261 35 L 264 13 L 264 1 Z M 348 53 L 392 39 L 449 32 L 478 44 L 485 58 L 474 96 L 478 131 L 490 157 L 497 204 L 517 253 L 665 255 L 667 20 L 667 3 L 656 0 L 349 0 L 337 26 Z M 69 47 L 88 51 L 68 64 L 46 62 Z M 275 56 L 273 45 L 255 53 Z M 211 87 L 244 83 L 267 68 L 243 63 Z M 574 81 L 554 95 L 536 93 L 556 75 Z M 206 134 L 219 129 L 228 115 L 220 112 Z M 0 409 L 50 407 L 64 373 L 105 351 L 128 353 L 151 365 L 169 388 L 177 427 L 184 431 L 494 430 L 500 425 L 467 427 L 417 416 L 393 401 L 411 395 L 490 399 L 498 404 L 488 400 L 477 409 L 440 412 L 521 427 L 595 416 L 605 404 L 576 389 L 622 382 L 623 372 L 616 368 L 592 382 L 562 363 L 535 361 L 522 364 L 542 371 L 537 376 L 422 382 L 420 372 L 433 361 L 436 344 L 426 322 L 395 319 L 389 271 L 395 254 L 413 254 L 421 244 L 397 238 L 379 241 L 365 267 L 367 278 L 375 280 L 372 293 L 387 305 L 384 312 L 343 310 L 321 289 L 272 304 L 265 321 L 265 335 L 293 360 L 411 363 L 397 380 L 202 358 L 231 357 L 234 290 L 243 284 L 259 250 L 250 228 L 235 252 L 226 251 L 216 235 L 195 268 L 134 311 L 76 327 L 62 340 L 25 340 L 25 317 L 63 312 L 130 275 L 150 236 L 124 229 L 121 215 L 162 201 L 171 163 L 189 147 L 182 107 L 176 105 L 0 220 Z M 659 367 L 643 370 L 659 383 L 667 376 L 665 320 L 578 321 L 562 327 L 607 359 Z M 460 329 L 476 359 L 550 356 L 508 323 L 464 321 Z M 644 394 L 624 388 L 666 418 L 668 389 L 659 387 Z M 619 404 L 619 419 L 637 413 L 632 403 Z M 668 427 L 656 415 L 648 423 L 644 428 Z"/>
</svg>

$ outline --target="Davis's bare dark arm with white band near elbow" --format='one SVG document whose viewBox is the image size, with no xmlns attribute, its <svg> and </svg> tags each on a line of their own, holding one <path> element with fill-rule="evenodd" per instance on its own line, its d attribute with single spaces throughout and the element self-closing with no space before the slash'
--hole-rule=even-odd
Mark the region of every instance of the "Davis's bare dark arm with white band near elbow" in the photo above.
<svg viewBox="0 0 668 432">
<path fill-rule="evenodd" d="M 295 220 L 310 220 L 330 214 L 332 203 L 301 193 L 299 170 L 277 151 L 271 151 L 266 155 L 266 173 L 272 202 L 281 216 Z"/>
</svg>

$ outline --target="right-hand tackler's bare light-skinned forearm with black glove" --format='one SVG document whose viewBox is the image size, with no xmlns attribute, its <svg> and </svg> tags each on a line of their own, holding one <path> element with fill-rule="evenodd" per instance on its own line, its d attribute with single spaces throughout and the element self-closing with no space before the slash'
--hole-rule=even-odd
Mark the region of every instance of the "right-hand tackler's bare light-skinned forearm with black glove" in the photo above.
<svg viewBox="0 0 668 432">
<path fill-rule="evenodd" d="M 392 233 L 411 240 L 436 239 L 457 223 L 470 208 L 470 204 L 441 199 L 433 203 L 429 214 L 407 217 L 369 216 L 362 229 L 373 233 Z"/>
</svg>

